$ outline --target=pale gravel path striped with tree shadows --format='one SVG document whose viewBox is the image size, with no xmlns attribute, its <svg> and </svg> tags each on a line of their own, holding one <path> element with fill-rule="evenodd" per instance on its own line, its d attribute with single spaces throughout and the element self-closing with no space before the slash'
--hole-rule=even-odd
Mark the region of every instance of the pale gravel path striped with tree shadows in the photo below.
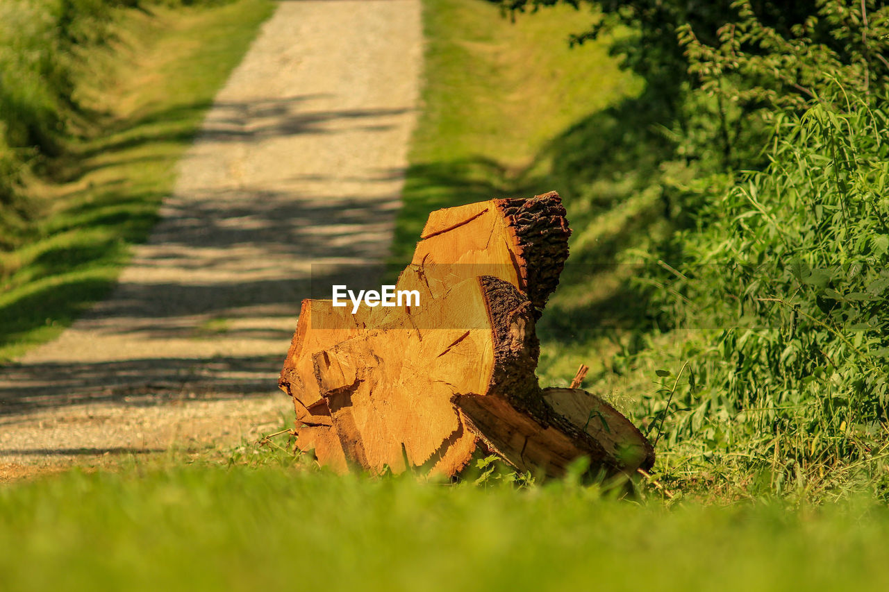
<svg viewBox="0 0 889 592">
<path fill-rule="evenodd" d="M 281 3 L 116 292 L 0 369 L 0 478 L 281 425 L 312 264 L 388 252 L 420 60 L 419 0 Z"/>
</svg>

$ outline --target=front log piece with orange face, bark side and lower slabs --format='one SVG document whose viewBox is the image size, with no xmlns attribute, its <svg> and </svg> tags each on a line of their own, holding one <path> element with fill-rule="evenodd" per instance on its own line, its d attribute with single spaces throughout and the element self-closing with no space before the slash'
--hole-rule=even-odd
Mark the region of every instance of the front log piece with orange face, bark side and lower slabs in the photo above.
<svg viewBox="0 0 889 592">
<path fill-rule="evenodd" d="M 424 315 L 443 328 L 412 328 L 429 323 Z M 469 280 L 417 316 L 315 356 L 333 429 L 352 464 L 374 473 L 411 467 L 454 476 L 477 452 L 495 452 L 517 468 L 558 476 L 581 456 L 612 473 L 646 463 L 644 452 L 612 454 L 642 450 L 645 438 L 611 407 L 617 417 L 605 416 L 605 404 L 595 400 L 578 425 L 548 402 L 534 375 L 533 308 L 514 286 L 491 276 Z M 453 328 L 454 316 L 466 330 Z M 590 413 L 623 428 L 613 443 L 599 442 L 605 424 Z"/>
</svg>

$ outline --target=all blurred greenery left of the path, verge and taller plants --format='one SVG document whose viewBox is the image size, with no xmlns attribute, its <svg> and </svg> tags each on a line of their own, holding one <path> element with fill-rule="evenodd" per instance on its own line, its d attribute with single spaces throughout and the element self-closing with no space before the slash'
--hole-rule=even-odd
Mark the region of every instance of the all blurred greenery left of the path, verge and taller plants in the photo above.
<svg viewBox="0 0 889 592">
<path fill-rule="evenodd" d="M 100 300 L 270 0 L 0 0 L 0 361 Z"/>
</svg>

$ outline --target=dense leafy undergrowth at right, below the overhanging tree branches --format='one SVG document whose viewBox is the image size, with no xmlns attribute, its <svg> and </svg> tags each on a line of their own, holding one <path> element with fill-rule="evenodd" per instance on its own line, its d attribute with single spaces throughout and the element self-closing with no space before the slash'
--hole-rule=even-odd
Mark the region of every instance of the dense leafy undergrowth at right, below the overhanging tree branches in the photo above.
<svg viewBox="0 0 889 592">
<path fill-rule="evenodd" d="M 636 360 L 688 363 L 669 407 L 655 394 L 640 408 L 665 416 L 680 464 L 731 459 L 743 475 L 774 472 L 779 490 L 837 485 L 849 468 L 889 484 L 887 125 L 863 100 L 779 116 L 765 172 L 688 188 L 699 227 L 672 236 L 680 260 L 646 276 L 653 308 L 692 331 Z"/>
</svg>

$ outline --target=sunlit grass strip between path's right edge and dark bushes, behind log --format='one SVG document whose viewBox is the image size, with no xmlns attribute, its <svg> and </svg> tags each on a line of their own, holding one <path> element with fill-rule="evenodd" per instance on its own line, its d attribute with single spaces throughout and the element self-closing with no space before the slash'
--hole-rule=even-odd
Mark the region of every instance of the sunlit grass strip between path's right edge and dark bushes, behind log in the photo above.
<svg viewBox="0 0 889 592">
<path fill-rule="evenodd" d="M 393 260 L 410 260 L 428 212 L 558 189 L 550 144 L 591 112 L 641 90 L 608 39 L 571 49 L 595 18 L 565 6 L 501 19 L 479 0 L 428 0 L 423 112 L 413 134 Z"/>
</svg>

